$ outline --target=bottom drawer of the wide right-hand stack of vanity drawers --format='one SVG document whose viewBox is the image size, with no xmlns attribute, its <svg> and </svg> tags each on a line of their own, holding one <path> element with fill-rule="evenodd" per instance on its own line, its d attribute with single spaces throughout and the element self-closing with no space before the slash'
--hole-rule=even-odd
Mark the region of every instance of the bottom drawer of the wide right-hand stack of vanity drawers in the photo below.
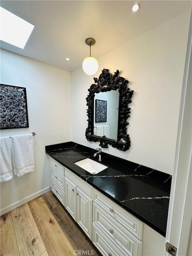
<svg viewBox="0 0 192 256">
<path fill-rule="evenodd" d="M 113 246 L 110 240 L 105 236 L 95 224 L 93 224 L 93 234 L 92 234 L 92 242 L 98 248 L 104 256 L 128 256 L 126 254 L 122 254 L 122 252 Z"/>
</svg>

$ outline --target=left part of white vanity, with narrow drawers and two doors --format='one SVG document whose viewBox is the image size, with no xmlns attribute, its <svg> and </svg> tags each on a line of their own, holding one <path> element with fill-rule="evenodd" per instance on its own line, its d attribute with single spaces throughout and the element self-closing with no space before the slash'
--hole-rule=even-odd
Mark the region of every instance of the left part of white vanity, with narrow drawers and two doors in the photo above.
<svg viewBox="0 0 192 256">
<path fill-rule="evenodd" d="M 89 239 L 92 239 L 92 186 L 51 157 L 49 160 L 49 177 L 52 192 Z"/>
</svg>

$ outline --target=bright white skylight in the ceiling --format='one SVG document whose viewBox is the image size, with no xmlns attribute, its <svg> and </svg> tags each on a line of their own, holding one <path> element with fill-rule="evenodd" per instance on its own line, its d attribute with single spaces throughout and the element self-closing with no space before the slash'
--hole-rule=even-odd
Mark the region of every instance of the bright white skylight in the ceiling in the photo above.
<svg viewBox="0 0 192 256">
<path fill-rule="evenodd" d="M 24 48 L 34 26 L 1 7 L 1 40 Z"/>
</svg>

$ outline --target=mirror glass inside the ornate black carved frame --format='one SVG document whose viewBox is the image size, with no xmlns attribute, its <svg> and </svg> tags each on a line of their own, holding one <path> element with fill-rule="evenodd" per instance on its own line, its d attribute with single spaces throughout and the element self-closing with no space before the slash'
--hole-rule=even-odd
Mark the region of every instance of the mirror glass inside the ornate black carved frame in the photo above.
<svg viewBox="0 0 192 256">
<path fill-rule="evenodd" d="M 96 100 L 107 101 L 107 120 L 106 122 L 98 122 L 96 119 L 97 109 Z M 118 129 L 118 113 L 119 113 L 119 92 L 111 90 L 110 92 L 99 92 L 95 95 L 94 101 L 94 135 L 106 136 L 107 138 L 117 140 Z"/>
</svg>

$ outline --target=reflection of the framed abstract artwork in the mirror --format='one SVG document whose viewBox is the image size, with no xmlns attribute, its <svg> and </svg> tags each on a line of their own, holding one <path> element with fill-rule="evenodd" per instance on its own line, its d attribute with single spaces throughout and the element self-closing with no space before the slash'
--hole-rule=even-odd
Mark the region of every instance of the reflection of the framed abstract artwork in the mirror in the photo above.
<svg viewBox="0 0 192 256">
<path fill-rule="evenodd" d="M 95 122 L 107 122 L 107 101 L 95 100 Z"/>
</svg>

